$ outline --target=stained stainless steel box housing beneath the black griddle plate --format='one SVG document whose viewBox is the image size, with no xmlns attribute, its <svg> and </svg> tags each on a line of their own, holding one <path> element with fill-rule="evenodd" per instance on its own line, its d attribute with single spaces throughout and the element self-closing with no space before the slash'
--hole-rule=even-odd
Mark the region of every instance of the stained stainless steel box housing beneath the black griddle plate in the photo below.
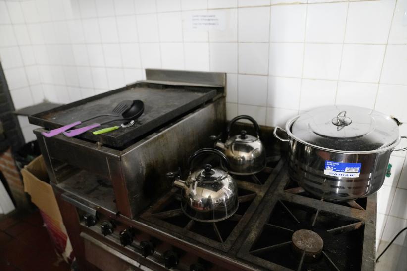
<svg viewBox="0 0 407 271">
<path fill-rule="evenodd" d="M 161 72 L 165 74 L 164 71 Z M 199 73 L 192 73 L 193 76 L 197 74 Z M 185 80 L 189 78 L 188 75 L 184 76 Z M 210 73 L 206 76 L 210 78 Z M 215 73 L 212 76 L 224 78 L 225 74 Z M 193 78 L 188 80 L 192 81 Z M 218 81 L 215 82 L 220 84 Z M 176 82 L 173 84 L 177 84 L 177 88 L 181 90 L 183 88 L 203 92 L 213 90 L 212 87 L 185 87 L 181 85 L 182 83 Z M 208 81 L 207 84 L 214 83 Z M 212 100 L 198 105 L 142 138 L 132 139 L 133 143 L 120 148 L 81 138 L 67 138 L 63 135 L 45 138 L 41 135 L 45 130 L 37 129 L 35 134 L 44 154 L 50 180 L 58 186 L 64 186 L 63 183 L 70 176 L 62 173 L 66 172 L 63 169 L 68 167 L 76 169 L 76 172 L 88 172 L 106 179 L 112 186 L 114 193 L 112 204 L 117 206 L 117 211 L 130 218 L 134 217 L 147 207 L 154 197 L 170 189 L 172 184 L 158 172 L 167 172 L 178 166 L 185 169 L 188 156 L 199 148 L 209 146 L 211 144 L 209 135 L 223 127 L 226 118 L 224 89 L 219 87 L 214 91 L 218 94 Z M 86 178 L 80 180 L 86 181 Z M 69 183 L 72 189 L 69 187 L 66 189 L 73 192 L 78 190 L 76 187 L 84 186 L 77 181 Z M 87 197 L 80 191 L 78 193 L 84 198 Z"/>
</svg>

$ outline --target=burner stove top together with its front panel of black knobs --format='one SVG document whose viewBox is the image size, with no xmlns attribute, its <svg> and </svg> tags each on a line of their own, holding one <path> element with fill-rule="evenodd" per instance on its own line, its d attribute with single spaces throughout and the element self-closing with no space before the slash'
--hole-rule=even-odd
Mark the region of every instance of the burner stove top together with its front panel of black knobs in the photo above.
<svg viewBox="0 0 407 271">
<path fill-rule="evenodd" d="M 133 219 L 99 206 L 94 225 L 82 220 L 82 236 L 153 270 L 374 269 L 375 195 L 357 205 L 315 198 L 296 187 L 278 158 L 268 158 L 255 176 L 234 176 L 239 209 L 224 221 L 191 220 L 180 208 L 179 189 L 172 188 Z M 129 230 L 136 233 L 123 240 Z"/>
</svg>

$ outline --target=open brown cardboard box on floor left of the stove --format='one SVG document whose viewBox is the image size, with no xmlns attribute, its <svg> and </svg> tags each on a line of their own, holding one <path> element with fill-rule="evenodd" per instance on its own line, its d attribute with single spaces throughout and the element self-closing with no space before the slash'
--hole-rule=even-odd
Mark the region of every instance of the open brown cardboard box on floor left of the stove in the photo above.
<svg viewBox="0 0 407 271">
<path fill-rule="evenodd" d="M 66 262 L 71 263 L 74 258 L 72 246 L 62 222 L 55 194 L 48 184 L 49 178 L 43 156 L 38 156 L 26 165 L 21 170 L 21 174 L 24 191 L 31 196 L 31 201 L 40 209 L 56 253 Z"/>
</svg>

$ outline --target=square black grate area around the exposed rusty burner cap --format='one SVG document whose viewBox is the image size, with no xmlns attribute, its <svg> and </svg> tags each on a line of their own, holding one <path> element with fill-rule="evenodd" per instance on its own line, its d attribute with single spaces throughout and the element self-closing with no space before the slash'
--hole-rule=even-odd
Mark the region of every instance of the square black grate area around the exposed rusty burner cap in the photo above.
<svg viewBox="0 0 407 271">
<path fill-rule="evenodd" d="M 249 253 L 297 271 L 360 270 L 363 233 L 355 218 L 278 200 Z"/>
</svg>

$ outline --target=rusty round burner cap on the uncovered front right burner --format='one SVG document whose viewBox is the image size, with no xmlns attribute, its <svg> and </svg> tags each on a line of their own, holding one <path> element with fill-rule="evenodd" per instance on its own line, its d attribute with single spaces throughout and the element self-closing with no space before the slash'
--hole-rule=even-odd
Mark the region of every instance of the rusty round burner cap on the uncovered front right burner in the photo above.
<svg viewBox="0 0 407 271">
<path fill-rule="evenodd" d="M 317 258 L 324 246 L 322 238 L 314 231 L 309 229 L 299 229 L 291 237 L 293 248 L 299 253 L 304 253 L 307 258 Z"/>
</svg>

